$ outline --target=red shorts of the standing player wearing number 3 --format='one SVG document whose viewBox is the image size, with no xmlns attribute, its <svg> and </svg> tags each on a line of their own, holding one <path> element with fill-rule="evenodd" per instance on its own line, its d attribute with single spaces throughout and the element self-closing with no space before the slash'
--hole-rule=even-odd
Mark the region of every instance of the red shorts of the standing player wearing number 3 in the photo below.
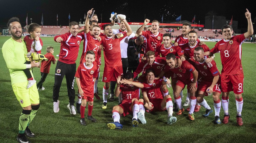
<svg viewBox="0 0 256 143">
<path fill-rule="evenodd" d="M 113 66 L 113 67 L 104 67 L 104 72 L 103 72 L 103 77 L 102 81 L 103 82 L 110 82 L 110 81 L 116 81 L 116 78 L 118 76 L 123 75 L 123 66 Z"/>
</svg>

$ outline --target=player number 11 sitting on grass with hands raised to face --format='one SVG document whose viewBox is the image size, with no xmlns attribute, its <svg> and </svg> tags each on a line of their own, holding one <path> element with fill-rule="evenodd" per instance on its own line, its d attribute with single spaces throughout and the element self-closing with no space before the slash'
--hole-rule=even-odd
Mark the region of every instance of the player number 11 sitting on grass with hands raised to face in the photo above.
<svg viewBox="0 0 256 143">
<path fill-rule="evenodd" d="M 107 124 L 108 128 L 111 129 L 122 129 L 123 125 L 120 124 L 120 114 L 126 116 L 133 114 L 133 127 L 138 127 L 138 119 L 141 123 L 145 124 L 145 109 L 143 105 L 143 99 L 140 97 L 140 88 L 143 88 L 143 84 L 140 82 L 133 82 L 133 73 L 127 72 L 124 76 L 124 80 L 121 81 L 121 76 L 117 78 L 117 87 L 115 91 L 116 97 L 122 94 L 122 103 L 116 105 L 112 110 L 112 117 L 114 122 Z"/>
</svg>

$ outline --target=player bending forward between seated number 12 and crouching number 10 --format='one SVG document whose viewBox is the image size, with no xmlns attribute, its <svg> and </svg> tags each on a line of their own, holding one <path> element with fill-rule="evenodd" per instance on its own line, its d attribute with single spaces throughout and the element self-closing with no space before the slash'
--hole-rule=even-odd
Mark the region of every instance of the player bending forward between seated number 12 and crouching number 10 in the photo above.
<svg viewBox="0 0 256 143">
<path fill-rule="evenodd" d="M 174 101 L 176 102 L 179 111 L 176 113 L 177 115 L 181 115 L 184 112 L 184 108 L 181 104 L 181 97 L 179 93 L 184 89 L 187 85 L 187 89 L 190 93 L 190 111 L 189 111 L 189 119 L 194 120 L 194 108 L 196 105 L 196 90 L 197 90 L 197 77 L 198 72 L 188 61 L 183 61 L 182 65 L 178 68 L 177 58 L 174 54 L 170 53 L 166 56 L 167 65 L 162 70 L 160 75 L 158 75 L 157 79 L 164 75 L 164 73 L 168 71 L 172 71 L 177 75 L 176 86 L 174 88 Z"/>
</svg>

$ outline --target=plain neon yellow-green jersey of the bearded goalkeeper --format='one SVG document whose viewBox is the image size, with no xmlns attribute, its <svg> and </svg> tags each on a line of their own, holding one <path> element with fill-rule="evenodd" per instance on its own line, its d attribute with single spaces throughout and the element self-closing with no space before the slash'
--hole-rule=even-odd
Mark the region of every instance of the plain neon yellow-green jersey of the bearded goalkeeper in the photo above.
<svg viewBox="0 0 256 143">
<path fill-rule="evenodd" d="M 24 54 L 27 54 L 28 52 L 24 41 L 22 40 L 22 42 L 19 43 L 13 40 L 13 38 L 10 38 L 4 43 L 2 53 L 10 72 L 11 84 L 26 82 L 27 77 L 23 72 L 23 70 L 26 69 L 26 64 L 24 64 L 26 62 Z M 31 69 L 30 73 L 33 77 Z"/>
</svg>

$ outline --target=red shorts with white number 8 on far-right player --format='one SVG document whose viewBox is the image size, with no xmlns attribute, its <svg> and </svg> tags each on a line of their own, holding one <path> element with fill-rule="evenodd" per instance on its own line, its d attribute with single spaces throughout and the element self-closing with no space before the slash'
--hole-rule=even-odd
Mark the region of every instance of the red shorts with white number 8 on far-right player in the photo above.
<svg viewBox="0 0 256 143">
<path fill-rule="evenodd" d="M 235 94 L 243 93 L 244 74 L 221 75 L 222 92 L 234 91 Z"/>
</svg>

